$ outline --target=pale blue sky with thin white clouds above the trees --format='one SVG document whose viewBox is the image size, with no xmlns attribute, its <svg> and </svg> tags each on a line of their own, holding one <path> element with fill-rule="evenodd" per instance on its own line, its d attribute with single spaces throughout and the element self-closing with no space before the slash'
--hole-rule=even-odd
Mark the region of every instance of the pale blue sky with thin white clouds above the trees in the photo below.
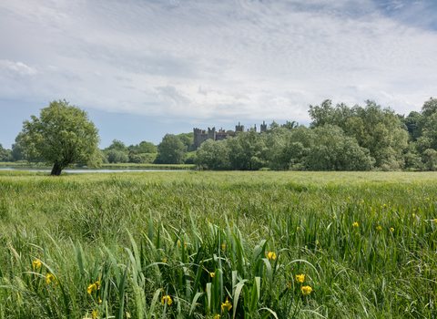
<svg viewBox="0 0 437 319">
<path fill-rule="evenodd" d="M 0 0 L 0 143 L 50 101 L 100 147 L 437 96 L 435 0 Z"/>
</svg>

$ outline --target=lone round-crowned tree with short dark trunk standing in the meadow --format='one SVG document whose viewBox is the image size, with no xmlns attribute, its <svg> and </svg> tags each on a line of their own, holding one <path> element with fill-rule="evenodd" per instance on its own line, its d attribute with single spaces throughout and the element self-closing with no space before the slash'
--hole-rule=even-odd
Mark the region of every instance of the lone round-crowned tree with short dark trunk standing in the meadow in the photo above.
<svg viewBox="0 0 437 319">
<path fill-rule="evenodd" d="M 53 101 L 41 115 L 23 122 L 25 148 L 29 160 L 53 164 L 51 175 L 59 176 L 69 164 L 83 162 L 97 167 L 101 157 L 97 145 L 98 129 L 86 111 L 64 100 Z"/>
</svg>

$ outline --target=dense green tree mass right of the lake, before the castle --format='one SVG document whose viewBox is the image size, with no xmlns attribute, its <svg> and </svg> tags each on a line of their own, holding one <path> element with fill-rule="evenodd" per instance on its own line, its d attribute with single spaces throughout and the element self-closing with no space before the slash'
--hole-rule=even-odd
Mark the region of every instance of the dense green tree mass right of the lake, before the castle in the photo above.
<svg viewBox="0 0 437 319">
<path fill-rule="evenodd" d="M 267 133 L 207 140 L 195 163 L 205 170 L 437 170 L 437 98 L 407 117 L 374 101 L 348 107 L 324 100 L 310 128 L 270 124 Z"/>
</svg>

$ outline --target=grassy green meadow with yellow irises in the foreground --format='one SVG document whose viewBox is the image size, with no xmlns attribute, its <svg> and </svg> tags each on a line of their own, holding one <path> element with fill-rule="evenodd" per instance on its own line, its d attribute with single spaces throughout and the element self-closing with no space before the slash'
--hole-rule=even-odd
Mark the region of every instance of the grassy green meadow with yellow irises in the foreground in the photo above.
<svg viewBox="0 0 437 319">
<path fill-rule="evenodd" d="M 0 318 L 435 318 L 436 173 L 0 172 Z"/>
</svg>

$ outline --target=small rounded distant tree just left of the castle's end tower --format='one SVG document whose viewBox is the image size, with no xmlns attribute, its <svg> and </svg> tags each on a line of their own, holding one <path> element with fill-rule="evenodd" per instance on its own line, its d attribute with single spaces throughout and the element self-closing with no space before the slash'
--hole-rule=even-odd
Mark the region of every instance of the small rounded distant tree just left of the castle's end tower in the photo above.
<svg viewBox="0 0 437 319">
<path fill-rule="evenodd" d="M 187 146 L 175 135 L 166 134 L 158 145 L 156 164 L 183 164 L 187 159 Z"/>
</svg>

